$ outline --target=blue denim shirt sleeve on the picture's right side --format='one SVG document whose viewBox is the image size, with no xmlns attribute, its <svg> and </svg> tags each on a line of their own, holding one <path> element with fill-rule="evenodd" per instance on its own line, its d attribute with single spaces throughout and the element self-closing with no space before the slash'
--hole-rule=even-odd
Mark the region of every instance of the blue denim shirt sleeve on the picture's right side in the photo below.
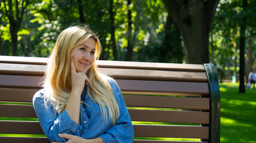
<svg viewBox="0 0 256 143">
<path fill-rule="evenodd" d="M 131 118 L 129 116 L 127 107 L 122 97 L 121 91 L 115 80 L 109 81 L 112 86 L 113 95 L 119 105 L 119 119 L 114 126 L 106 130 L 106 132 L 100 136 L 104 143 L 109 142 L 133 142 L 134 141 L 134 131 L 132 128 Z"/>
</svg>

